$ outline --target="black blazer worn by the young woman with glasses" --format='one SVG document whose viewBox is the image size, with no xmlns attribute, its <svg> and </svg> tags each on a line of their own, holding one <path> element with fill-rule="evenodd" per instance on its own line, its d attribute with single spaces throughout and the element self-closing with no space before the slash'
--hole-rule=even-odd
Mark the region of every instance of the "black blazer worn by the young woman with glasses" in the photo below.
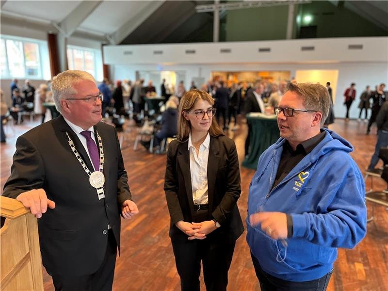
<svg viewBox="0 0 388 291">
<path fill-rule="evenodd" d="M 188 141 L 173 140 L 167 152 L 164 192 L 170 212 L 170 238 L 185 242 L 188 236 L 175 223 L 192 222 L 194 215 L 190 176 Z M 240 197 L 240 171 L 234 141 L 226 136 L 210 137 L 208 160 L 209 219 L 215 218 L 221 227 L 207 236 L 212 245 L 238 239 L 244 228 L 237 208 Z"/>
</svg>

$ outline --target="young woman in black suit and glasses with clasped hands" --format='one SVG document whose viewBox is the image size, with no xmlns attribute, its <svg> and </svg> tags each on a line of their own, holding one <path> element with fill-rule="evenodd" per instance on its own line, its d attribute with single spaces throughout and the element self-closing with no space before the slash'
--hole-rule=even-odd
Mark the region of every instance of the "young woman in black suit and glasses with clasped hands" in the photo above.
<svg viewBox="0 0 388 291">
<path fill-rule="evenodd" d="M 182 291 L 226 290 L 235 242 L 243 232 L 237 208 L 240 172 L 236 146 L 213 118 L 213 99 L 191 90 L 179 106 L 178 138 L 167 153 L 164 191 L 170 238 Z"/>
</svg>

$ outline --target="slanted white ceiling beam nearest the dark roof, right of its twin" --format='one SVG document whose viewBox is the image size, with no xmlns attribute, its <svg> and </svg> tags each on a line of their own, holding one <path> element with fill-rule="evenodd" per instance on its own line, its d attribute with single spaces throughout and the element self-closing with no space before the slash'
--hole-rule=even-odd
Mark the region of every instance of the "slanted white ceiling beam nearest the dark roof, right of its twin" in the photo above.
<svg viewBox="0 0 388 291">
<path fill-rule="evenodd" d="M 116 32 L 110 35 L 110 41 L 113 40 L 113 44 L 121 43 L 130 33 L 139 27 L 146 19 L 151 16 L 165 1 L 151 1 L 136 16 L 129 19 L 127 23 L 122 25 Z"/>
</svg>

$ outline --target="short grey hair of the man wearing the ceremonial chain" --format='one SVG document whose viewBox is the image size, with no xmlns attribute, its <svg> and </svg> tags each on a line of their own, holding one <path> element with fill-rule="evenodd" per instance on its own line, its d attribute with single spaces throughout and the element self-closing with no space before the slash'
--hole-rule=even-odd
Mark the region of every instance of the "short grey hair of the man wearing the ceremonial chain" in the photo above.
<svg viewBox="0 0 388 291">
<path fill-rule="evenodd" d="M 61 99 L 77 94 L 77 91 L 73 88 L 73 84 L 81 80 L 96 82 L 91 74 L 80 70 L 67 70 L 54 77 L 51 83 L 51 91 L 55 107 L 59 113 L 62 113 Z"/>
</svg>

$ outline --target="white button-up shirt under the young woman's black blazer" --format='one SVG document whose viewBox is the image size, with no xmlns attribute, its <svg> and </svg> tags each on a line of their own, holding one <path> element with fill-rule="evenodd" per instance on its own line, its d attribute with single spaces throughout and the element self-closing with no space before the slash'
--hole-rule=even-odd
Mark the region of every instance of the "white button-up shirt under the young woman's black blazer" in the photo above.
<svg viewBox="0 0 388 291">
<path fill-rule="evenodd" d="M 198 204 L 209 204 L 208 195 L 208 160 L 209 160 L 210 134 L 199 146 L 198 155 L 189 135 L 190 175 L 193 201 Z"/>
</svg>

